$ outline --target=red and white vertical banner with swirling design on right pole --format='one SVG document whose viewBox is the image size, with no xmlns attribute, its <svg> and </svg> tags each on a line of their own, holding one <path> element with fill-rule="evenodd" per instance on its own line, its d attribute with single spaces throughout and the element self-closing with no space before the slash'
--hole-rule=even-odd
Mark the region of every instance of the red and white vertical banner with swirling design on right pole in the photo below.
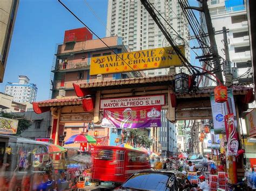
<svg viewBox="0 0 256 191">
<path fill-rule="evenodd" d="M 238 151 L 238 137 L 234 126 L 234 114 L 225 115 L 225 127 L 227 135 L 227 155 L 237 155 Z"/>
</svg>

